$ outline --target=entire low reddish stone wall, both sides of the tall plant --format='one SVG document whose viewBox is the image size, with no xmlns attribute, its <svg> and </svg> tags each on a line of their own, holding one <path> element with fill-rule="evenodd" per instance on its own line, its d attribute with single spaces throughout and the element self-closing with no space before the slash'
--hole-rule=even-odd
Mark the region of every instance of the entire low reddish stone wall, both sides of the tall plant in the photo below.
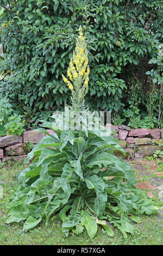
<svg viewBox="0 0 163 256">
<path fill-rule="evenodd" d="M 114 154 L 124 159 L 142 159 L 145 156 L 152 156 L 155 150 L 159 150 L 159 143 L 163 143 L 163 130 L 146 128 L 131 130 L 126 125 L 111 125 L 115 134 L 114 138 L 120 139 L 120 145 L 126 152 L 126 156 L 120 151 L 114 151 Z M 54 134 L 52 130 L 47 130 Z M 42 132 L 27 131 L 21 136 L 8 135 L 0 137 L 0 162 L 2 161 L 24 161 L 29 152 L 28 144 L 33 142 L 37 144 L 44 136 Z"/>
</svg>

